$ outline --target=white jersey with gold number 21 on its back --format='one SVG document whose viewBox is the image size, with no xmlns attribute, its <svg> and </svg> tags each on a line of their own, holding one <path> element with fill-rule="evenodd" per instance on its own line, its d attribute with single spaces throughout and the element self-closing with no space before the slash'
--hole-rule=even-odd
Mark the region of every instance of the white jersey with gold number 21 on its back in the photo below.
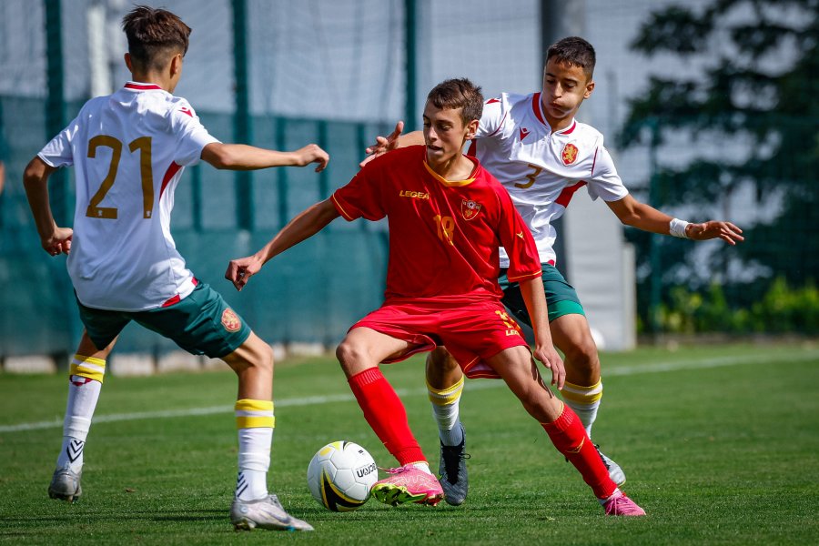
<svg viewBox="0 0 819 546">
<path fill-rule="evenodd" d="M 68 274 L 86 307 L 139 311 L 185 298 L 193 274 L 170 233 L 174 191 L 216 138 L 184 98 L 128 82 L 89 100 L 38 154 L 76 168 Z"/>
</svg>

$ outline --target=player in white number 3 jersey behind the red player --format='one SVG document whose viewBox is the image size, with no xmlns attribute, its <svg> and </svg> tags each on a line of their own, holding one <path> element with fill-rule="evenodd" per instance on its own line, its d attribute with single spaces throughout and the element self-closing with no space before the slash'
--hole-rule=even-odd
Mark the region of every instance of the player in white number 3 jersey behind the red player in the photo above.
<svg viewBox="0 0 819 546">
<path fill-rule="evenodd" d="M 541 92 L 503 93 L 486 101 L 468 151 L 501 181 L 535 239 L 552 339 L 566 357 L 562 397 L 580 416 L 590 437 L 602 398 L 600 359 L 580 299 L 554 267 L 557 234 L 551 221 L 561 217 L 574 192 L 586 186 L 592 199 L 601 197 L 627 226 L 695 240 L 722 238 L 731 245 L 743 240 L 742 230 L 730 222 L 684 222 L 629 194 L 603 147 L 602 134 L 574 118 L 594 89 L 594 63 L 594 48 L 580 37 L 564 38 L 551 45 Z M 402 130 L 403 123 L 399 122 L 391 135 L 379 136 L 376 144 L 367 149 L 371 155 L 362 165 L 396 147 L 423 143 L 420 131 L 401 135 Z M 509 258 L 501 248 L 503 303 L 515 317 L 531 325 L 519 285 L 506 278 L 504 268 L 508 267 Z M 427 387 L 440 433 L 440 483 L 446 501 L 458 505 L 466 499 L 469 485 L 458 411 L 463 377 L 444 348 L 430 353 Z M 600 455 L 612 480 L 622 484 L 625 475 L 620 466 L 602 452 Z"/>
</svg>

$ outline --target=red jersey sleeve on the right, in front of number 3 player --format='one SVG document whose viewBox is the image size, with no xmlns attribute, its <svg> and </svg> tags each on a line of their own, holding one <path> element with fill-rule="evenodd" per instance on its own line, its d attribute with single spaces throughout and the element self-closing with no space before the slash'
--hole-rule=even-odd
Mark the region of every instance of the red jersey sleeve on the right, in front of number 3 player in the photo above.
<svg viewBox="0 0 819 546">
<path fill-rule="evenodd" d="M 515 208 L 511 197 L 503 187 L 496 192 L 501 206 L 498 235 L 503 248 L 509 255 L 509 270 L 506 277 L 510 282 L 541 277 L 541 258 L 531 231 Z"/>
</svg>

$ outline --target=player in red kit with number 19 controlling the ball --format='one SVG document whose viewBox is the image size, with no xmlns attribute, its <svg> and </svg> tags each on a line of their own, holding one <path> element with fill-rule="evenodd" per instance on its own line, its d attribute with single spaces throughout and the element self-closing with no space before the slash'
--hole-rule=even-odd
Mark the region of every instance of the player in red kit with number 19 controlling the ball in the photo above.
<svg viewBox="0 0 819 546">
<path fill-rule="evenodd" d="M 436 86 L 424 108 L 425 146 L 371 161 L 256 254 L 231 261 L 226 278 L 243 288 L 270 258 L 339 216 L 349 221 L 387 217 L 384 304 L 354 324 L 336 351 L 365 419 L 400 464 L 373 486 L 373 495 L 392 505 L 435 505 L 443 498 L 379 363 L 446 345 L 467 377 L 506 381 L 580 470 L 607 514 L 643 515 L 609 477 L 577 415 L 541 379 L 517 323 L 501 305 L 497 278 L 503 246 L 511 258 L 508 276 L 521 284 L 532 317 L 534 357 L 551 369 L 551 382 L 561 389 L 565 370 L 551 342 L 534 239 L 501 184 L 461 153 L 475 135 L 482 106 L 480 88 L 469 80 Z"/>
</svg>

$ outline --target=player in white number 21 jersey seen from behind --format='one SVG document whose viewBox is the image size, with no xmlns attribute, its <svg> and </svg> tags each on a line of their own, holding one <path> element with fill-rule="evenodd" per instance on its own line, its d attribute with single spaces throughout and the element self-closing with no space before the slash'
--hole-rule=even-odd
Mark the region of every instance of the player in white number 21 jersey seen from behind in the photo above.
<svg viewBox="0 0 819 546">
<path fill-rule="evenodd" d="M 184 167 L 204 159 L 217 168 L 323 169 L 316 145 L 278 152 L 222 144 L 184 98 L 173 96 L 190 28 L 166 10 L 137 6 L 123 20 L 133 81 L 86 103 L 25 169 L 25 192 L 41 243 L 67 266 L 85 326 L 69 370 L 63 446 L 48 488 L 69 502 L 80 479 L 106 358 L 131 320 L 194 354 L 223 359 L 238 375 L 238 480 L 231 521 L 238 529 L 310 531 L 268 493 L 275 418 L 273 354 L 224 299 L 185 266 L 170 234 L 174 190 Z M 74 228 L 58 227 L 47 180 L 76 168 Z"/>
</svg>

